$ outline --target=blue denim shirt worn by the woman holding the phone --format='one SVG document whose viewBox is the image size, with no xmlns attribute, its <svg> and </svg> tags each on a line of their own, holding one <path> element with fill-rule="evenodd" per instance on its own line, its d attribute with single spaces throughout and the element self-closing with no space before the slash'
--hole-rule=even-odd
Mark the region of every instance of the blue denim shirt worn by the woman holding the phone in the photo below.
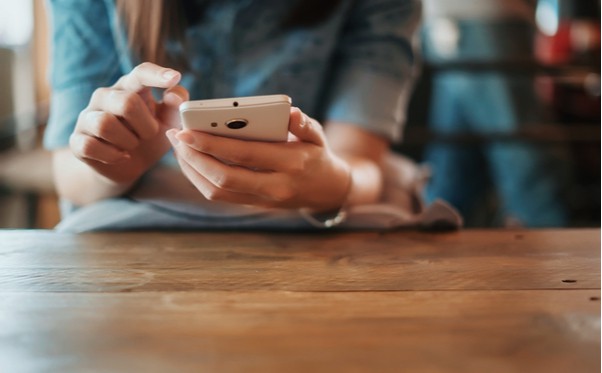
<svg viewBox="0 0 602 373">
<path fill-rule="evenodd" d="M 293 5 L 291 5 L 293 4 Z M 325 121 L 399 139 L 415 65 L 419 0 L 342 0 L 325 21 L 279 29 L 295 2 L 210 0 L 186 30 L 191 99 L 287 94 Z M 127 48 L 114 0 L 49 0 L 52 99 L 44 143 L 68 145 L 96 88 L 142 62 Z"/>
</svg>

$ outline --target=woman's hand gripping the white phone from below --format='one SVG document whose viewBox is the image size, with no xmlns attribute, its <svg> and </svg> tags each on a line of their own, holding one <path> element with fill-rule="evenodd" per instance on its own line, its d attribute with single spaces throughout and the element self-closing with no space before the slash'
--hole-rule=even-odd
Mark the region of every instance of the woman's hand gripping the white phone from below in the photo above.
<svg viewBox="0 0 602 373">
<path fill-rule="evenodd" d="M 322 126 L 292 108 L 288 142 L 245 141 L 191 130 L 167 132 L 180 167 L 209 200 L 316 211 L 343 205 L 351 168 Z"/>
</svg>

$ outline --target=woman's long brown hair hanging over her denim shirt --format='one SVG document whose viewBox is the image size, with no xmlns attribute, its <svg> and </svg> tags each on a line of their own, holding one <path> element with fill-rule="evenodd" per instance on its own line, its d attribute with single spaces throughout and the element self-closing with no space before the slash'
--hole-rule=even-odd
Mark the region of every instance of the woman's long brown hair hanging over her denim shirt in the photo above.
<svg viewBox="0 0 602 373">
<path fill-rule="evenodd" d="M 289 0 L 291 1 L 291 0 Z M 283 29 L 321 23 L 341 0 L 300 0 L 282 21 Z M 119 19 L 127 32 L 130 49 L 142 61 L 186 68 L 186 27 L 202 18 L 207 1 L 116 0 Z M 170 45 L 172 47 L 167 48 Z M 169 50 L 168 50 L 169 49 Z"/>
</svg>

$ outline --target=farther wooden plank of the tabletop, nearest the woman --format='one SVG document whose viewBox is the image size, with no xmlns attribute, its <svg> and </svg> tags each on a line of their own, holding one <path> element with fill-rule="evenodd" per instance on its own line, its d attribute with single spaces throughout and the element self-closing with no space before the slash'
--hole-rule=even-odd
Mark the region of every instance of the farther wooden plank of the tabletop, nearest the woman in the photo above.
<svg viewBox="0 0 602 373">
<path fill-rule="evenodd" d="M 600 235 L 587 230 L 305 235 L 7 231 L 0 240 L 0 291 L 5 292 L 600 287 Z"/>
</svg>

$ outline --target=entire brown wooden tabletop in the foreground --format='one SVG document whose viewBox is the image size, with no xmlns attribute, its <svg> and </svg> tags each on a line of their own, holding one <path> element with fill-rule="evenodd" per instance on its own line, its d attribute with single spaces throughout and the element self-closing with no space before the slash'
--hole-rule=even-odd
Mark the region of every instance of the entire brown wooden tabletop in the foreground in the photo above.
<svg viewBox="0 0 602 373">
<path fill-rule="evenodd" d="M 600 230 L 0 231 L 0 372 L 600 372 Z"/>
</svg>

